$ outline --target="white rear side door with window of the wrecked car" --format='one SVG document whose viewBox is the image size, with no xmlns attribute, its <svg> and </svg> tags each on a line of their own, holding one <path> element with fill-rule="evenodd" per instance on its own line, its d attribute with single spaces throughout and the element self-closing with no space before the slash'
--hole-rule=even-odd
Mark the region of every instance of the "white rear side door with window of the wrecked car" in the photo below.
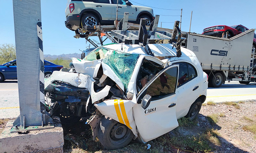
<svg viewBox="0 0 256 153">
<path fill-rule="evenodd" d="M 190 106 L 199 97 L 202 83 L 198 71 L 192 63 L 178 62 L 174 64 L 179 64 L 176 115 L 177 118 L 181 118 L 187 115 Z"/>
</svg>

